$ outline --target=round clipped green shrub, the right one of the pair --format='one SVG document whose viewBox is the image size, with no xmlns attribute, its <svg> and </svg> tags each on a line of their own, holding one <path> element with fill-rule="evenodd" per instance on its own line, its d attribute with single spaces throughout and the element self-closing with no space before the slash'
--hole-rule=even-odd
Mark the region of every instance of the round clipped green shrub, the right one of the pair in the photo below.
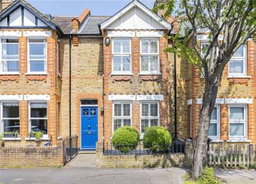
<svg viewBox="0 0 256 184">
<path fill-rule="evenodd" d="M 161 126 L 151 126 L 144 133 L 144 146 L 152 152 L 166 151 L 171 145 L 171 135 Z"/>
</svg>

